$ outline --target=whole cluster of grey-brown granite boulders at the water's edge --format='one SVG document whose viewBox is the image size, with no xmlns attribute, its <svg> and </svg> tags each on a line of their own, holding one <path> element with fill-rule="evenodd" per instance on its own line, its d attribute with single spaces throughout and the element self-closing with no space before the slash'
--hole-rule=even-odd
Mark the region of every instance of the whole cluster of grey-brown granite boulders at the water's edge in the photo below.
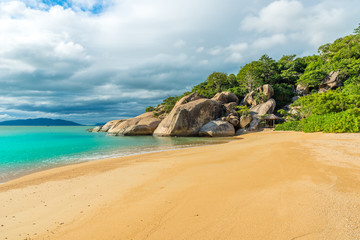
<svg viewBox="0 0 360 240">
<path fill-rule="evenodd" d="M 258 93 L 262 94 L 262 101 L 255 99 Z M 181 98 L 168 114 L 164 114 L 162 107 L 158 106 L 154 112 L 126 120 L 113 120 L 92 131 L 125 136 L 234 136 L 236 132 L 256 130 L 260 117 L 274 111 L 276 103 L 271 98 L 273 94 L 274 90 L 268 84 L 249 93 L 241 104 L 250 107 L 250 113 L 240 116 L 236 109 L 239 99 L 233 93 L 217 93 L 212 99 L 191 93 Z"/>
</svg>

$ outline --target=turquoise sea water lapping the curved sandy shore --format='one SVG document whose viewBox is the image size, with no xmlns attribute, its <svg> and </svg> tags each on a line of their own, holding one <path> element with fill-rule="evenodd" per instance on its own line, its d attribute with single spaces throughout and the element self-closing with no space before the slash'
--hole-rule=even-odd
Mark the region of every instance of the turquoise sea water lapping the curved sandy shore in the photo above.
<svg viewBox="0 0 360 240">
<path fill-rule="evenodd" d="M 219 139 L 153 136 L 115 137 L 81 127 L 0 126 L 0 183 L 61 165 L 175 148 Z"/>
</svg>

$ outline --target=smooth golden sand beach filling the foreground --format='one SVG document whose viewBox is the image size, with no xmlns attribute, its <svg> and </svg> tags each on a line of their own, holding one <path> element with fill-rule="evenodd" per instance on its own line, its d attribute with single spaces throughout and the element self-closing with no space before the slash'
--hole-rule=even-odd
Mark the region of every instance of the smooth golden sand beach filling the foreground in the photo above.
<svg viewBox="0 0 360 240">
<path fill-rule="evenodd" d="M 0 239 L 360 239 L 360 134 L 258 132 L 0 185 Z"/>
</svg>

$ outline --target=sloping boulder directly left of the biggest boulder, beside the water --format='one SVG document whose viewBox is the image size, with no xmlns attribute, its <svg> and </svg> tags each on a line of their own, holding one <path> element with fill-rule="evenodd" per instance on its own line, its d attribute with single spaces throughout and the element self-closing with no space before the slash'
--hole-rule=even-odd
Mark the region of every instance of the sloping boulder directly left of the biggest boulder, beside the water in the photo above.
<svg viewBox="0 0 360 240">
<path fill-rule="evenodd" d="M 161 119 L 154 117 L 152 112 L 147 112 L 120 122 L 116 127 L 109 129 L 108 133 L 125 136 L 152 135 L 160 122 Z"/>
</svg>

